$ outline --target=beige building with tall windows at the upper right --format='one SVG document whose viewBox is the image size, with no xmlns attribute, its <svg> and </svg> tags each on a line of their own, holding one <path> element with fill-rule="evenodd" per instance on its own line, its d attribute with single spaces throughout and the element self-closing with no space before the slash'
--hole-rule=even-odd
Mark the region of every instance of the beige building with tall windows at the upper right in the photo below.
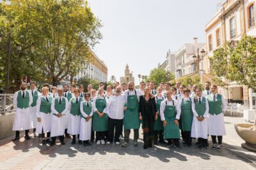
<svg viewBox="0 0 256 170">
<path fill-rule="evenodd" d="M 225 41 L 237 41 L 243 34 L 256 37 L 255 0 L 227 0 L 221 10 L 205 25 L 207 37 L 207 57 L 204 70 L 209 73 L 209 57 Z M 227 80 L 223 80 L 227 81 Z M 220 93 L 230 102 L 248 104 L 248 88 L 236 82 L 227 82 L 227 87 L 219 88 Z"/>
</svg>

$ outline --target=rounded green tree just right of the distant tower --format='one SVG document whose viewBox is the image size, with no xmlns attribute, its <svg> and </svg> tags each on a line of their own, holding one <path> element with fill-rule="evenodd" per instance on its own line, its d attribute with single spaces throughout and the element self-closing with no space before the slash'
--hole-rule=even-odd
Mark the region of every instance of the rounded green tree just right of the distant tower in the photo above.
<svg viewBox="0 0 256 170">
<path fill-rule="evenodd" d="M 154 68 L 150 71 L 150 74 L 147 78 L 148 81 L 155 81 L 156 85 L 159 85 L 161 82 L 167 82 L 173 80 L 175 77 L 172 73 L 166 76 L 166 71 L 164 69 Z"/>
</svg>

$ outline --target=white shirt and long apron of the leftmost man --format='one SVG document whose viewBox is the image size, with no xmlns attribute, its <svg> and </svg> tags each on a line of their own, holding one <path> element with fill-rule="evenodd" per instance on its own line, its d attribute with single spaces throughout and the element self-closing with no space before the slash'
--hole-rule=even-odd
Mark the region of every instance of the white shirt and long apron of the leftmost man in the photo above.
<svg viewBox="0 0 256 170">
<path fill-rule="evenodd" d="M 21 91 L 21 95 L 23 94 L 23 90 Z M 13 104 L 15 106 L 17 106 L 18 101 L 18 93 L 20 92 L 15 92 L 14 96 L 13 96 Z M 24 96 L 26 96 L 26 92 L 27 90 L 24 90 Z M 29 107 L 26 109 L 21 109 L 21 108 L 16 108 L 16 113 L 15 113 L 15 118 L 14 118 L 14 122 L 13 122 L 13 127 L 12 130 L 13 131 L 22 131 L 22 130 L 28 130 L 31 128 L 31 113 L 30 113 L 30 106 L 33 103 L 33 97 L 31 92 L 28 92 L 29 95 Z"/>
</svg>

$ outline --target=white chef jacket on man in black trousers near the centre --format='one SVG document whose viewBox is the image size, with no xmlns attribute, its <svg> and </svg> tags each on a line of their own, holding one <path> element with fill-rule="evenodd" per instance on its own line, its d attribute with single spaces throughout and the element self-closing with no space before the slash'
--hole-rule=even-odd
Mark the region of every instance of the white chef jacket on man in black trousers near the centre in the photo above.
<svg viewBox="0 0 256 170">
<path fill-rule="evenodd" d="M 106 108 L 106 113 L 108 116 L 113 119 L 123 119 L 125 102 L 126 100 L 124 95 L 111 96 Z"/>
</svg>

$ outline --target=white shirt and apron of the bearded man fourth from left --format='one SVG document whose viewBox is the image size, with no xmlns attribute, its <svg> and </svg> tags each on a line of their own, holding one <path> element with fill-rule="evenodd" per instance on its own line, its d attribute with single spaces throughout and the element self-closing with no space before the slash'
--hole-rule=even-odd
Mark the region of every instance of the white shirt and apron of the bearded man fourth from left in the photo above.
<svg viewBox="0 0 256 170">
<path fill-rule="evenodd" d="M 56 98 L 55 98 L 56 99 Z M 56 117 L 58 111 L 55 110 L 55 99 L 52 99 L 52 116 L 51 116 L 51 137 L 62 136 L 65 132 L 65 117 L 68 112 L 68 99 L 66 97 L 58 96 L 58 102 L 65 100 L 65 110 L 62 111 L 61 117 Z M 56 114 L 56 115 L 53 115 Z"/>
</svg>

